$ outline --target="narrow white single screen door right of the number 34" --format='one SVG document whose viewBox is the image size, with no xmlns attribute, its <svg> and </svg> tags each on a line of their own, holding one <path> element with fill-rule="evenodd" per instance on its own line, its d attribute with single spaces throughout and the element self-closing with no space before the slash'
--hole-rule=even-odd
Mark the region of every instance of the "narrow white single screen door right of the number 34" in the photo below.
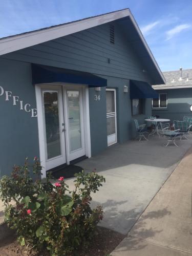
<svg viewBox="0 0 192 256">
<path fill-rule="evenodd" d="M 106 89 L 106 131 L 108 146 L 117 143 L 116 90 Z"/>
</svg>

